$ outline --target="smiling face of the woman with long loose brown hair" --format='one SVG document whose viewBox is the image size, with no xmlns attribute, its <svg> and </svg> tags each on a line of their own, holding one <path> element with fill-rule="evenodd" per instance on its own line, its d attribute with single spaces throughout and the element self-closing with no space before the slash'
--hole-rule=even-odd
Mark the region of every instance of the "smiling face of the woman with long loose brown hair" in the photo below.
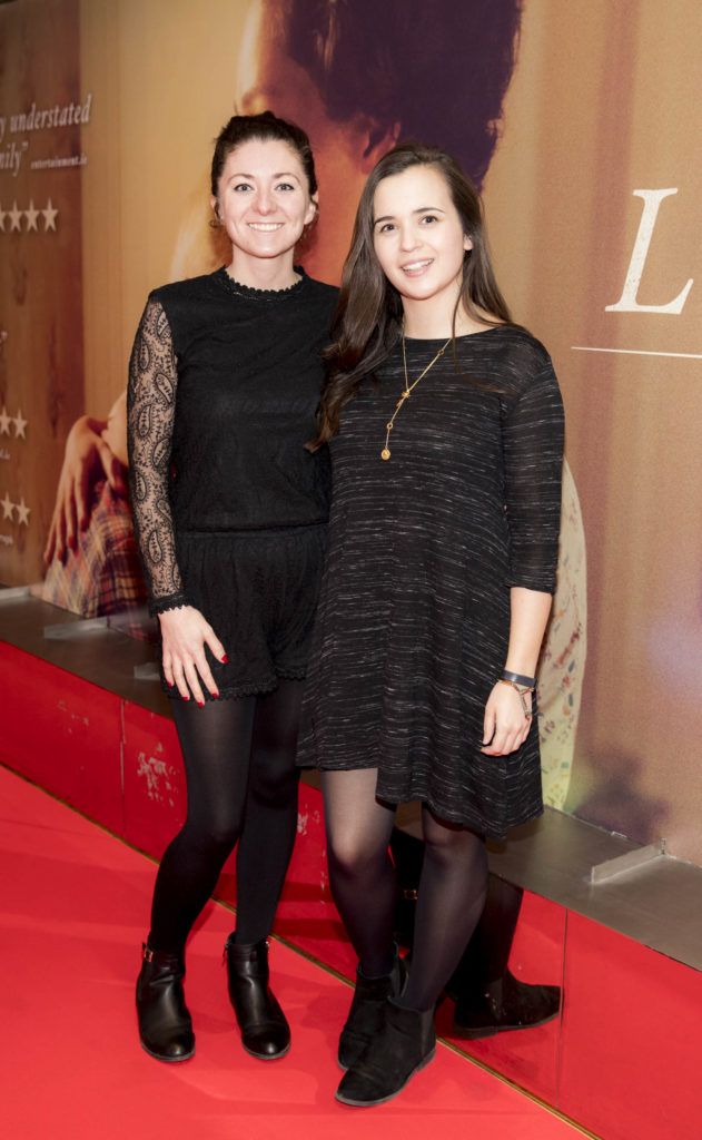
<svg viewBox="0 0 702 1140">
<path fill-rule="evenodd" d="M 384 178 L 373 199 L 373 245 L 405 307 L 433 301 L 452 311 L 464 253 L 472 249 L 446 179 L 435 166 L 410 166 Z"/>
</svg>

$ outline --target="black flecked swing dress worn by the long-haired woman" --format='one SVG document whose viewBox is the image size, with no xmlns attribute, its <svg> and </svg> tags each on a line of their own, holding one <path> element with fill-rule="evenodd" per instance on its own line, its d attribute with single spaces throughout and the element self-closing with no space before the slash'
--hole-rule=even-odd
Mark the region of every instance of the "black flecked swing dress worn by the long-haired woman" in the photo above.
<svg viewBox="0 0 702 1140">
<path fill-rule="evenodd" d="M 411 384 L 442 341 L 407 340 Z M 544 347 L 499 326 L 460 336 L 385 425 L 398 345 L 342 412 L 301 765 L 377 767 L 377 796 L 501 838 L 542 811 L 536 718 L 484 756 L 509 589 L 553 593 L 563 407 Z"/>
</svg>

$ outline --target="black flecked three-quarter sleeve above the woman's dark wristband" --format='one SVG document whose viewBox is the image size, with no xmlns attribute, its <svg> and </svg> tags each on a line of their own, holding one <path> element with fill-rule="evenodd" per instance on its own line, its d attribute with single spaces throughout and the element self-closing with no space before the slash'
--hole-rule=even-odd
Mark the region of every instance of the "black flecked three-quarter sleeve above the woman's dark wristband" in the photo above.
<svg viewBox="0 0 702 1140">
<path fill-rule="evenodd" d="M 555 593 L 563 438 L 563 400 L 549 363 L 524 386 L 503 427 L 509 586 Z"/>
</svg>

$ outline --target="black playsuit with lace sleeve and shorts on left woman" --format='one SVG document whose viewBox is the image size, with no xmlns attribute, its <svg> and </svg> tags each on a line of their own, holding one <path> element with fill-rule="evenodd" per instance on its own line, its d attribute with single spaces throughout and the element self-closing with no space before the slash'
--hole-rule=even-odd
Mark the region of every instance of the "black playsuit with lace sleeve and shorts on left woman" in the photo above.
<svg viewBox="0 0 702 1140">
<path fill-rule="evenodd" d="M 150 612 L 201 610 L 229 657 L 207 650 L 221 697 L 307 668 L 329 461 L 304 443 L 337 291 L 297 271 L 287 290 L 250 288 L 225 269 L 155 290 L 130 361 L 130 489 Z"/>
</svg>

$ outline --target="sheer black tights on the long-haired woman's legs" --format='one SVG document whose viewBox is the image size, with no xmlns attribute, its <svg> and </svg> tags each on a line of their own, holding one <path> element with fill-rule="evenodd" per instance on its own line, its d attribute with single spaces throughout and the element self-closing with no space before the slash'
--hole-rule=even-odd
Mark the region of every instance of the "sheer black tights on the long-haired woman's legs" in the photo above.
<svg viewBox="0 0 702 1140">
<path fill-rule="evenodd" d="M 375 798 L 377 772 L 323 772 L 334 901 L 367 977 L 393 959 L 397 885 L 389 844 L 394 805 Z M 456 969 L 485 902 L 488 857 L 480 836 L 426 808 L 409 983 L 400 1004 L 431 1009 Z"/>
</svg>

